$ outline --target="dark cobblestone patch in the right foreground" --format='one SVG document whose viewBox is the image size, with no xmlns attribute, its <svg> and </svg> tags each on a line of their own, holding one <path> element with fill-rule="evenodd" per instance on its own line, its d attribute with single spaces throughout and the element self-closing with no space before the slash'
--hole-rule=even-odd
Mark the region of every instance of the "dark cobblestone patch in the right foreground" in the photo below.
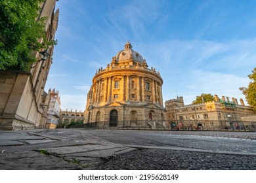
<svg viewBox="0 0 256 183">
<path fill-rule="evenodd" d="M 140 149 L 116 155 L 92 169 L 255 170 L 256 156 L 182 150 Z"/>
</svg>

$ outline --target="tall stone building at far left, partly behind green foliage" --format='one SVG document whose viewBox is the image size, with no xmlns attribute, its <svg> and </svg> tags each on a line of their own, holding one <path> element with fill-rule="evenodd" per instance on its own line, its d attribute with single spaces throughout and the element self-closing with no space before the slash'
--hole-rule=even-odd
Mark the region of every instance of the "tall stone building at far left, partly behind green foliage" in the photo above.
<svg viewBox="0 0 256 183">
<path fill-rule="evenodd" d="M 55 0 L 44 1 L 39 12 L 39 17 L 47 17 L 45 33 L 49 41 L 54 39 L 58 25 L 55 3 Z M 53 49 L 53 46 L 47 49 L 51 56 Z M 30 72 L 0 70 L 0 129 L 33 129 L 45 124 L 49 99 L 44 88 L 53 60 L 51 56 L 46 60 L 40 59 L 39 52 L 33 53 L 38 61 L 33 63 Z"/>
</svg>

